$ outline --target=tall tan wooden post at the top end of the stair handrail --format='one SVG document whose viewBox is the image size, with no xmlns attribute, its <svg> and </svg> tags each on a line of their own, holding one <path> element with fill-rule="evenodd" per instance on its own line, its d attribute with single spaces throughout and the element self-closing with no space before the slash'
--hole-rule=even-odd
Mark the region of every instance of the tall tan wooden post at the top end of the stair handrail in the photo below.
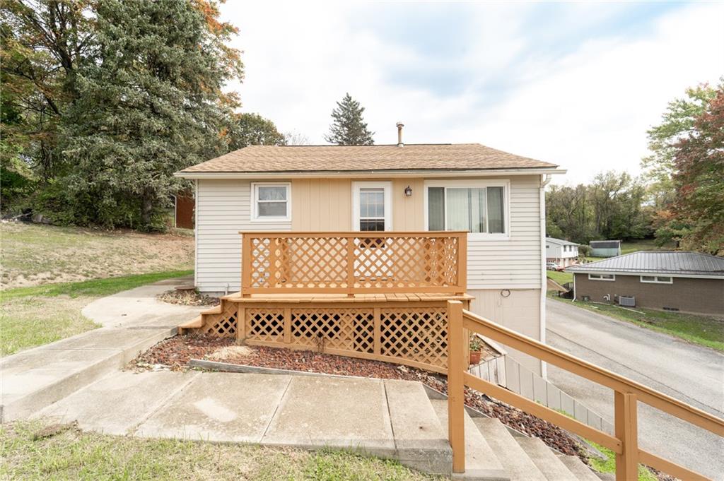
<svg viewBox="0 0 724 481">
<path fill-rule="evenodd" d="M 465 472 L 465 384 L 463 303 L 447 301 L 447 438 L 452 472 Z"/>
</svg>

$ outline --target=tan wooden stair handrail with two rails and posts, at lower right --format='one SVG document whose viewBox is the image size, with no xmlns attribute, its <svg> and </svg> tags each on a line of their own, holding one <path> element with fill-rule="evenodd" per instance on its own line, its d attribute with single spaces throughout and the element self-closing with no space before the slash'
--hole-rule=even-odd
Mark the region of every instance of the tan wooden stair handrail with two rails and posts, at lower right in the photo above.
<svg viewBox="0 0 724 481">
<path fill-rule="evenodd" d="M 667 396 L 664 393 L 636 383 L 636 381 L 625 378 L 622 375 L 612 373 L 583 359 L 579 359 L 559 349 L 547 346 L 547 344 L 543 344 L 540 341 L 524 336 L 521 333 L 505 328 L 473 312 L 463 310 L 461 306 L 455 304 L 453 301 L 448 302 L 447 317 L 450 326 L 448 331 L 448 365 L 450 367 L 448 370 L 448 419 L 452 419 L 453 417 L 457 419 L 461 415 L 457 412 L 460 410 L 458 406 L 459 402 L 450 401 L 450 399 L 458 399 L 459 396 L 463 396 L 463 386 L 470 386 L 482 393 L 500 399 L 500 401 L 518 407 L 518 409 L 522 409 L 529 414 L 533 414 L 542 420 L 552 422 L 566 430 L 589 438 L 606 448 L 610 448 L 616 454 L 617 481 L 637 479 L 639 462 L 648 464 L 651 467 L 660 469 L 662 472 L 667 472 L 681 479 L 707 479 L 690 469 L 681 467 L 678 464 L 639 449 L 636 403 L 637 401 L 642 401 L 719 436 L 724 436 L 724 420 L 678 399 L 674 399 L 671 396 Z M 463 346 L 453 344 L 453 341 L 458 338 L 458 334 L 453 331 L 461 331 L 463 329 L 487 336 L 501 344 L 510 346 L 513 349 L 517 349 L 545 362 L 550 362 L 552 365 L 556 365 L 573 374 L 580 375 L 602 386 L 613 389 L 615 435 L 612 436 L 594 429 L 578 420 L 566 417 L 547 406 L 537 404 L 519 394 L 477 378 L 470 373 L 464 372 L 462 379 L 458 380 L 458 374 L 452 373 L 452 366 L 458 365 L 461 359 L 463 359 L 464 354 Z M 452 380 L 455 380 L 455 382 L 450 381 L 451 375 Z M 462 455 L 455 453 L 456 446 L 459 446 L 459 443 L 464 440 L 464 425 L 460 425 L 459 423 L 453 425 L 453 423 L 450 422 L 449 431 L 450 446 L 452 446 L 453 472 L 464 472 L 464 451 Z"/>
</svg>

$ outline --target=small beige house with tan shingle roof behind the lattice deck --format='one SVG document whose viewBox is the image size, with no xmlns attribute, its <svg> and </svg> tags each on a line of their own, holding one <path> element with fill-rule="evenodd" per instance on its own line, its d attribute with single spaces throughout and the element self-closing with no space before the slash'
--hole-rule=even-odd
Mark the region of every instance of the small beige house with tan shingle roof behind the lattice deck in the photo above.
<svg viewBox="0 0 724 481">
<path fill-rule="evenodd" d="M 240 290 L 239 231 L 468 231 L 473 310 L 542 340 L 544 187 L 564 172 L 479 144 L 400 143 L 251 145 L 177 176 L 196 185 L 200 291 Z"/>
</svg>

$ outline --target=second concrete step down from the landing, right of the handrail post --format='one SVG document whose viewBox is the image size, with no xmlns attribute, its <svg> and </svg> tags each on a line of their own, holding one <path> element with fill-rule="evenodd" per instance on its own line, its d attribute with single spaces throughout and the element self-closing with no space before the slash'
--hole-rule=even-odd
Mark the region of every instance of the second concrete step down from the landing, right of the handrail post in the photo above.
<svg viewBox="0 0 724 481">
<path fill-rule="evenodd" d="M 476 417 L 473 421 L 495 456 L 500 459 L 510 481 L 547 481 L 502 422 L 491 417 Z"/>
</svg>

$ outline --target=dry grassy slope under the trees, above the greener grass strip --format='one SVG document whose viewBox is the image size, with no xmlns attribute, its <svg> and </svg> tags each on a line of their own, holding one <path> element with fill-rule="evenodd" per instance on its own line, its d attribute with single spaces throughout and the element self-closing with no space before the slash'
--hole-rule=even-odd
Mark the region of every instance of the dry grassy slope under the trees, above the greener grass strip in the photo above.
<svg viewBox="0 0 724 481">
<path fill-rule="evenodd" d="M 0 224 L 4 288 L 193 268 L 193 235 Z"/>
</svg>

